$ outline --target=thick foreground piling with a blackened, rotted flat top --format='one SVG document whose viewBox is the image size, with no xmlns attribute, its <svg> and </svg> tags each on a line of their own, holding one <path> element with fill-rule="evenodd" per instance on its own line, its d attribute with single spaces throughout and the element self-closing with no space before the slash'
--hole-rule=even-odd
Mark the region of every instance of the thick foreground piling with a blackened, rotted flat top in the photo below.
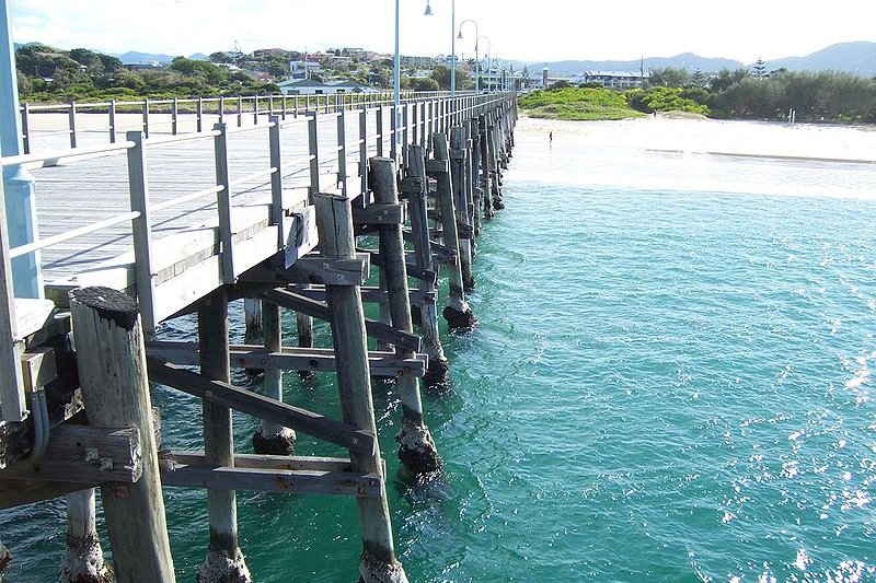
<svg viewBox="0 0 876 583">
<path fill-rule="evenodd" d="M 89 423 L 140 432 L 140 479 L 101 487 L 116 579 L 174 582 L 137 302 L 110 288 L 77 289 L 69 298 Z"/>
</svg>

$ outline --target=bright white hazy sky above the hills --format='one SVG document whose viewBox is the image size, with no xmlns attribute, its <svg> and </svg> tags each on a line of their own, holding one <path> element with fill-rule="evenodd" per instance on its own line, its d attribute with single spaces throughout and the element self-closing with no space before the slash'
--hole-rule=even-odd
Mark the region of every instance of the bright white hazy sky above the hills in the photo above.
<svg viewBox="0 0 876 583">
<path fill-rule="evenodd" d="M 393 0 L 4 0 L 15 42 L 106 53 L 169 55 L 280 47 L 393 49 Z M 401 0 L 401 51 L 450 53 L 451 0 Z M 876 42 L 873 0 L 561 1 L 459 0 L 494 57 L 520 60 L 637 59 L 695 53 L 753 62 L 803 56 L 834 43 Z M 527 8 L 519 8 L 526 4 Z M 821 8 L 815 9 L 815 5 Z M 474 26 L 457 40 L 473 56 Z M 483 56 L 487 42 L 481 42 Z"/>
</svg>

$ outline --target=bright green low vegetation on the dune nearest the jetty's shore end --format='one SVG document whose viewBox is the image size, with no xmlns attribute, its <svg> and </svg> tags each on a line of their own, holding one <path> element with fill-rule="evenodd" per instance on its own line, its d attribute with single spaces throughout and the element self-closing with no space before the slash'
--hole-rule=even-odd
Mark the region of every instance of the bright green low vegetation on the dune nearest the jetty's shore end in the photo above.
<svg viewBox="0 0 876 583">
<path fill-rule="evenodd" d="M 520 98 L 530 117 L 565 120 L 626 119 L 643 117 L 620 93 L 600 88 L 561 88 L 534 91 Z"/>
</svg>

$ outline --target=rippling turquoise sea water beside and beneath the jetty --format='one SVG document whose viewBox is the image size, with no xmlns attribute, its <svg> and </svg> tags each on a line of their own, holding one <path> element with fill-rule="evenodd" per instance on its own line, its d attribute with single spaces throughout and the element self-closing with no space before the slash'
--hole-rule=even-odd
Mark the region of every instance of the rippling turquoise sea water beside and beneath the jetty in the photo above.
<svg viewBox="0 0 876 583">
<path fill-rule="evenodd" d="M 480 241 L 481 325 L 424 396 L 441 480 L 400 475 L 397 395 L 374 385 L 411 580 L 876 581 L 874 185 L 866 165 L 520 143 Z M 337 416 L 330 377 L 287 385 Z M 198 448 L 198 403 L 155 401 L 165 446 Z M 203 494 L 166 502 L 192 581 Z M 239 502 L 257 581 L 355 581 L 354 501 Z M 1 518 L 8 581 L 50 581 L 62 505 Z"/>
</svg>

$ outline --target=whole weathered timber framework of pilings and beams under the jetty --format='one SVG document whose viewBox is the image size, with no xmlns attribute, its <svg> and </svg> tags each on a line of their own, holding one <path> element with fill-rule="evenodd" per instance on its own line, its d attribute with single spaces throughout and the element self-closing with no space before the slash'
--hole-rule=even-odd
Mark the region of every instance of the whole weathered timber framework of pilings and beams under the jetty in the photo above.
<svg viewBox="0 0 876 583">
<path fill-rule="evenodd" d="M 451 330 L 476 325 L 465 293 L 475 284 L 483 221 L 503 208 L 502 172 L 517 116 L 514 96 L 447 107 L 434 126 L 431 116 L 428 125 L 413 126 L 410 141 L 407 128 L 394 128 L 404 145 L 395 158 L 367 160 L 360 191 L 338 176 L 338 188 L 310 193 L 297 213 L 315 218 L 318 236 L 304 220 L 290 246 L 302 249 L 309 240 L 313 250 L 292 260 L 280 252 L 174 314 L 197 318 L 196 342 L 153 337 L 143 329 L 137 300 L 108 287 L 70 291 L 69 311 L 26 339 L 25 386 L 36 404 L 32 410 L 46 415 L 0 429 L 0 508 L 68 495 L 61 580 L 113 576 L 95 529 L 93 488 L 100 487 L 116 580 L 175 581 L 162 488 L 185 487 L 205 488 L 208 498 L 209 548 L 200 582 L 251 581 L 238 540 L 237 490 L 355 497 L 362 580 L 406 581 L 394 552 L 371 378 L 396 378 L 402 464 L 417 474 L 440 471 L 424 422 L 420 380 L 440 385 L 450 373 L 439 305 Z M 427 119 L 425 106 L 422 116 Z M 272 180 L 280 176 L 276 172 Z M 366 246 L 374 241 L 377 248 Z M 366 285 L 372 265 L 379 284 Z M 441 270 L 449 282 L 446 298 L 439 296 Z M 239 299 L 247 305 L 247 343 L 234 346 L 228 306 Z M 364 302 L 380 305 L 378 320 L 365 317 Z M 297 314 L 297 346 L 284 338 L 281 310 Z M 314 318 L 330 324 L 332 349 L 313 347 Z M 369 338 L 378 350 L 369 350 Z M 263 370 L 263 393 L 233 385 L 232 366 Z M 284 371 L 334 371 L 339 420 L 284 403 Z M 203 399 L 203 452 L 160 450 L 150 382 Z M 41 408 L 47 385 L 49 392 L 80 390 L 60 406 Z M 255 454 L 235 451 L 232 410 L 262 420 Z M 341 445 L 349 456 L 292 455 L 296 432 Z"/>
</svg>

